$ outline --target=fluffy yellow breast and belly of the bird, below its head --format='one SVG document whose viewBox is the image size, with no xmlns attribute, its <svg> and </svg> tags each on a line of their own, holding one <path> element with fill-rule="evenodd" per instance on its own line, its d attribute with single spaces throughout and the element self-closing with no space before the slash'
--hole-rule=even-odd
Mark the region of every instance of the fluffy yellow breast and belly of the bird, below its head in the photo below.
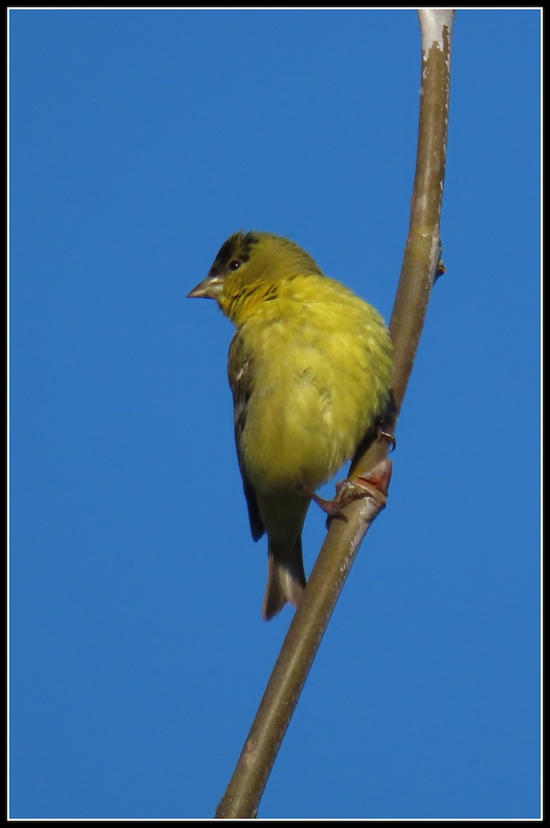
<svg viewBox="0 0 550 828">
<path fill-rule="evenodd" d="M 316 489 L 384 411 L 392 368 L 384 321 L 339 282 L 296 277 L 239 332 L 255 365 L 241 441 L 248 478 L 266 493 Z"/>
</svg>

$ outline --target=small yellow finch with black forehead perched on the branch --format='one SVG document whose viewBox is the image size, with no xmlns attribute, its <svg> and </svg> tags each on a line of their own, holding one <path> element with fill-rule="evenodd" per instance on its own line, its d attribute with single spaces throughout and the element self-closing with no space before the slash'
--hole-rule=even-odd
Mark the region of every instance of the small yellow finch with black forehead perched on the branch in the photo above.
<svg viewBox="0 0 550 828">
<path fill-rule="evenodd" d="M 236 327 L 234 436 L 253 540 L 268 536 L 262 615 L 272 619 L 302 599 L 302 528 L 315 490 L 380 429 L 392 341 L 373 306 L 275 233 L 233 233 L 188 297 L 217 301 Z"/>
</svg>

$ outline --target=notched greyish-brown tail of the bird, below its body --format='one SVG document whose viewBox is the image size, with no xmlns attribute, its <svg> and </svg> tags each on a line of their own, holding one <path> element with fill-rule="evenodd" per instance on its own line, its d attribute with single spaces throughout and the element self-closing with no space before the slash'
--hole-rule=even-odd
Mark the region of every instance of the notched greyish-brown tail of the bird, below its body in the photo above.
<svg viewBox="0 0 550 828">
<path fill-rule="evenodd" d="M 306 573 L 302 560 L 302 538 L 298 537 L 290 550 L 268 546 L 268 585 L 263 597 L 264 621 L 280 613 L 287 601 L 295 607 L 306 588 Z"/>
</svg>

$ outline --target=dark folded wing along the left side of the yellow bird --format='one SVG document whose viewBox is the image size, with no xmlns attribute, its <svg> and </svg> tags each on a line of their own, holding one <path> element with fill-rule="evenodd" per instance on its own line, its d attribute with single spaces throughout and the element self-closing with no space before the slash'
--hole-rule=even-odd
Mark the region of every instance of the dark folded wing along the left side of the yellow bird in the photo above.
<svg viewBox="0 0 550 828">
<path fill-rule="evenodd" d="M 229 345 L 229 359 L 227 363 L 229 374 L 229 386 L 233 392 L 233 410 L 235 422 L 235 445 L 237 446 L 237 459 L 243 479 L 244 497 L 248 506 L 248 520 L 250 521 L 250 532 L 254 541 L 258 541 L 265 532 L 262 518 L 258 512 L 258 502 L 253 486 L 248 481 L 244 472 L 242 456 L 242 437 L 246 428 L 247 404 L 253 392 L 254 364 L 253 356 L 245 346 L 239 332 L 237 332 Z"/>
</svg>

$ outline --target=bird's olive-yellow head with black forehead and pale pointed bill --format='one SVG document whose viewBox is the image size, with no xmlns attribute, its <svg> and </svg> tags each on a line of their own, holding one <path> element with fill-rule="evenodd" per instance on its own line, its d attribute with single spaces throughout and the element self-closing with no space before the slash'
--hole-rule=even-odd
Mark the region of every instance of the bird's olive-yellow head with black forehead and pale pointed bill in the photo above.
<svg viewBox="0 0 550 828">
<path fill-rule="evenodd" d="M 323 275 L 309 253 L 288 238 L 239 230 L 222 244 L 208 276 L 188 298 L 215 299 L 224 314 L 237 321 L 244 307 L 273 299 L 289 277 L 310 273 Z"/>
</svg>

